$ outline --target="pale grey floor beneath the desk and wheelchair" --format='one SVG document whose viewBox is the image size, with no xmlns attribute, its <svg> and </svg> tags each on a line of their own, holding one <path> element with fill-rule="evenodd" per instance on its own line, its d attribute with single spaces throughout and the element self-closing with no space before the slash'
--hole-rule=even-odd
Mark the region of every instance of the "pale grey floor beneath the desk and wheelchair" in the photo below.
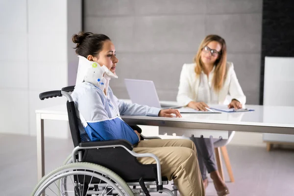
<svg viewBox="0 0 294 196">
<path fill-rule="evenodd" d="M 72 149 L 71 140 L 46 138 L 45 172 L 61 165 Z M 265 147 L 235 145 L 227 149 L 235 177 L 234 183 L 227 182 L 230 196 L 294 196 L 293 150 L 267 152 Z M 37 183 L 36 151 L 36 137 L 0 134 L 0 196 L 31 194 Z M 206 196 L 217 196 L 211 180 Z"/>
</svg>

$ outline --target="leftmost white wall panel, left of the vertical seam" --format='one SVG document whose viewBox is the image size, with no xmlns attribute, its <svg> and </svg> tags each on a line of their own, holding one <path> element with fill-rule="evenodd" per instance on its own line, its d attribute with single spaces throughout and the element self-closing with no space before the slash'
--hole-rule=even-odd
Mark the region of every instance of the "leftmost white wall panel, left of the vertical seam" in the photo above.
<svg viewBox="0 0 294 196">
<path fill-rule="evenodd" d="M 1 132 L 29 134 L 26 0 L 0 1 Z"/>
</svg>

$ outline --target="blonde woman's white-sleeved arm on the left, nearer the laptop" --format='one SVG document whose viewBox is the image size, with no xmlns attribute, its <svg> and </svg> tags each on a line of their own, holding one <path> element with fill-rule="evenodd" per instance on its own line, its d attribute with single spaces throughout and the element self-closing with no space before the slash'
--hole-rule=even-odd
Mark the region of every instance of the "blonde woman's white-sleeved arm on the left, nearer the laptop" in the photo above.
<svg viewBox="0 0 294 196">
<path fill-rule="evenodd" d="M 189 84 L 188 76 L 189 72 L 187 70 L 187 65 L 184 64 L 180 74 L 179 90 L 176 97 L 176 101 L 182 106 L 186 106 L 189 102 L 193 101 L 189 96 L 191 94 L 191 86 Z"/>
</svg>

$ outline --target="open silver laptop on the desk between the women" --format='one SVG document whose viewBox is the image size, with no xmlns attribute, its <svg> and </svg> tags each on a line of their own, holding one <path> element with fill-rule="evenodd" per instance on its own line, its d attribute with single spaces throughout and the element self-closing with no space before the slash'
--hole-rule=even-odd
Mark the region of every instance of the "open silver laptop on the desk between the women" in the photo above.
<svg viewBox="0 0 294 196">
<path fill-rule="evenodd" d="M 133 103 L 157 108 L 180 108 L 179 105 L 161 104 L 151 80 L 124 79 L 127 93 Z"/>
</svg>

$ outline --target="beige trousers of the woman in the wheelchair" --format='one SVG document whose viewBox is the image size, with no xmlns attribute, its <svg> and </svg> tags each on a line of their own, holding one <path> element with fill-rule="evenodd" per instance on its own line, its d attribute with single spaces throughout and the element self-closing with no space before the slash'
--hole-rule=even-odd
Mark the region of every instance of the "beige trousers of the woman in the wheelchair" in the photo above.
<svg viewBox="0 0 294 196">
<path fill-rule="evenodd" d="M 161 165 L 161 174 L 173 180 L 181 196 L 204 196 L 205 191 L 197 161 L 195 144 L 191 140 L 143 140 L 134 146 L 137 153 L 155 154 Z M 155 164 L 151 157 L 141 157 L 142 164 Z"/>
</svg>

